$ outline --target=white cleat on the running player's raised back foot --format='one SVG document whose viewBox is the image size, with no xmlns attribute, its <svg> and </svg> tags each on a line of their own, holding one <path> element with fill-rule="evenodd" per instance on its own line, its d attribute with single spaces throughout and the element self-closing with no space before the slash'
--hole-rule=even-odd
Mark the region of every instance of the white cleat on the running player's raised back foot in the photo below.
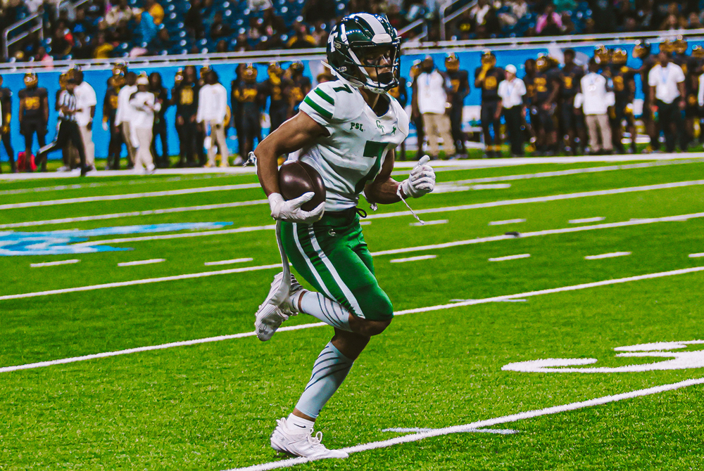
<svg viewBox="0 0 704 471">
<path fill-rule="evenodd" d="M 294 293 L 303 290 L 303 287 L 298 284 L 293 275 L 288 286 L 285 286 L 283 281 L 284 273 L 277 273 L 271 283 L 269 294 L 257 311 L 254 331 L 262 342 L 269 340 L 290 316 L 298 314 L 298 310 L 289 302 L 289 299 Z"/>
</svg>

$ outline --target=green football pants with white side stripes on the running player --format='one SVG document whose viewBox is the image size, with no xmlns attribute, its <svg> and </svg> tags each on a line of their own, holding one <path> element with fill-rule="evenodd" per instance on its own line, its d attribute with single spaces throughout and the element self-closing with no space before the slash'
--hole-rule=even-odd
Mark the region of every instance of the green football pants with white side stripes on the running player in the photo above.
<svg viewBox="0 0 704 471">
<path fill-rule="evenodd" d="M 361 318 L 385 321 L 394 315 L 374 276 L 358 219 L 324 216 L 313 225 L 282 224 L 282 243 L 294 269 L 315 289 Z"/>
</svg>

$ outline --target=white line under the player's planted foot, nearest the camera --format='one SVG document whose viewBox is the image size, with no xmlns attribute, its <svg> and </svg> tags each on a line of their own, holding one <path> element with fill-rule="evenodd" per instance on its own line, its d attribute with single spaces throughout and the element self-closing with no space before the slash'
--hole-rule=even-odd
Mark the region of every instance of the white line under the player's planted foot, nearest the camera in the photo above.
<svg viewBox="0 0 704 471">
<path fill-rule="evenodd" d="M 361 444 L 357 446 L 348 446 L 341 449 L 347 453 L 358 453 L 360 451 L 369 451 L 379 448 L 387 448 L 389 446 L 394 446 L 403 443 L 410 443 L 411 441 L 419 441 L 422 439 L 430 437 L 441 437 L 442 435 L 470 432 L 479 427 L 488 427 L 491 425 L 505 424 L 510 422 L 517 422 L 519 420 L 525 420 L 535 417 L 540 417 L 541 415 L 553 415 L 561 412 L 576 411 L 585 407 L 591 406 L 601 406 L 602 404 L 609 404 L 611 402 L 623 401 L 624 399 L 633 399 L 634 397 L 650 396 L 652 394 L 660 394 L 661 392 L 674 391 L 675 389 L 680 389 L 682 387 L 688 387 L 693 385 L 704 384 L 704 378 L 697 378 L 692 380 L 684 380 L 680 382 L 673 382 L 669 385 L 648 387 L 647 389 L 636 389 L 635 391 L 624 392 L 622 394 L 614 394 L 610 396 L 602 396 L 596 399 L 590 399 L 589 401 L 572 402 L 570 404 L 563 404 L 561 406 L 546 407 L 544 409 L 536 409 L 534 411 L 519 412 L 511 415 L 504 415 L 503 417 L 497 417 L 489 420 L 479 420 L 477 422 L 472 422 L 465 425 L 455 425 L 453 427 L 445 427 L 441 429 L 433 429 L 428 432 L 419 432 L 410 435 L 404 435 L 403 437 L 395 437 L 388 440 L 372 441 L 370 443 Z M 272 461 L 270 463 L 264 463 L 261 465 L 254 465 L 249 467 L 237 467 L 227 471 L 265 471 L 265 470 L 275 470 L 281 467 L 291 467 L 294 465 L 300 465 L 302 463 L 308 463 L 307 458 L 291 458 L 288 460 Z"/>
</svg>

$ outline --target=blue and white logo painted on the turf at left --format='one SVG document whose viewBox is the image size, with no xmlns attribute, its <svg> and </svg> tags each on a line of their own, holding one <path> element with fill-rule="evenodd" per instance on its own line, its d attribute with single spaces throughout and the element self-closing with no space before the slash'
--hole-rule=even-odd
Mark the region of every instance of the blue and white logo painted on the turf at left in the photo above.
<svg viewBox="0 0 704 471">
<path fill-rule="evenodd" d="M 179 224 L 149 224 L 146 226 L 118 226 L 87 229 L 85 231 L 14 232 L 0 231 L 0 256 L 16 255 L 69 255 L 94 252 L 132 250 L 111 247 L 99 242 L 86 243 L 91 237 L 119 236 L 124 234 L 149 234 L 156 232 L 193 231 L 230 226 L 231 222 L 187 222 Z M 78 244 L 78 245 L 71 245 Z"/>
</svg>

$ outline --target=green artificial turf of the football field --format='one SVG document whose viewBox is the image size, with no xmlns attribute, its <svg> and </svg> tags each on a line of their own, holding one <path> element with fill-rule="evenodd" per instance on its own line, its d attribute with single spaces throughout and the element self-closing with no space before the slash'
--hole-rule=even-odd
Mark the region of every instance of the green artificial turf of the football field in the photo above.
<svg viewBox="0 0 704 471">
<path fill-rule="evenodd" d="M 605 164 L 463 169 L 439 181 L 508 176 Z M 510 188 L 429 195 L 417 209 L 693 181 L 701 163 L 510 181 Z M 171 181 L 169 180 L 171 179 Z M 69 182 L 65 180 L 70 180 Z M 12 188 L 80 188 L 1 195 L 0 204 L 57 198 L 201 188 L 256 181 L 253 175 L 53 179 Z M 120 186 L 89 186 L 90 183 Z M 139 183 L 136 183 L 139 182 Z M 257 188 L 99 201 L 0 211 L 0 224 L 148 211 L 263 198 Z M 425 214 L 446 224 L 413 226 L 409 215 L 369 219 L 372 252 L 418 247 L 506 231 L 531 233 L 633 218 L 702 212 L 704 186 L 666 188 L 549 202 L 524 202 Z M 377 214 L 403 211 L 382 207 Z M 604 217 L 589 224 L 570 219 Z M 526 219 L 491 226 L 491 221 Z M 167 222 L 232 222 L 227 228 L 272 224 L 266 205 L 150 214 L 98 221 L 2 228 L 51 231 Z M 704 218 L 425 248 L 375 257 L 377 278 L 399 311 L 547 288 L 702 266 Z M 185 231 L 187 233 L 189 231 Z M 184 231 L 182 231 L 184 233 Z M 152 236 L 170 233 L 154 233 Z M 146 234 L 91 240 L 134 238 Z M 270 229 L 245 233 L 108 244 L 122 252 L 0 257 L 0 296 L 141 280 L 239 266 L 276 264 Z M 587 255 L 631 252 L 586 260 Z M 391 264 L 434 254 L 435 259 Z M 489 258 L 531 257 L 506 262 Z M 251 257 L 251 262 L 205 262 Z M 165 262 L 118 267 L 118 262 Z M 30 263 L 80 259 L 72 265 Z M 276 269 L 121 288 L 0 300 L 0 367 L 106 351 L 249 333 L 253 313 Z M 389 427 L 449 427 L 521 411 L 585 401 L 691 378 L 698 369 L 646 373 L 517 373 L 508 363 L 594 358 L 596 366 L 659 361 L 617 358 L 615 347 L 704 339 L 700 295 L 704 273 L 398 316 L 372 339 L 317 428 L 330 448 L 396 437 Z M 286 325 L 317 322 L 301 314 Z M 191 347 L 78 361 L 0 373 L 0 470 L 226 470 L 284 459 L 268 445 L 277 418 L 287 415 L 332 328 L 280 332 Z M 696 350 L 699 346 L 688 347 Z M 492 426 L 517 434 L 460 433 L 353 453 L 346 460 L 298 465 L 306 470 L 631 470 L 700 469 L 704 427 L 701 385 Z"/>
</svg>

